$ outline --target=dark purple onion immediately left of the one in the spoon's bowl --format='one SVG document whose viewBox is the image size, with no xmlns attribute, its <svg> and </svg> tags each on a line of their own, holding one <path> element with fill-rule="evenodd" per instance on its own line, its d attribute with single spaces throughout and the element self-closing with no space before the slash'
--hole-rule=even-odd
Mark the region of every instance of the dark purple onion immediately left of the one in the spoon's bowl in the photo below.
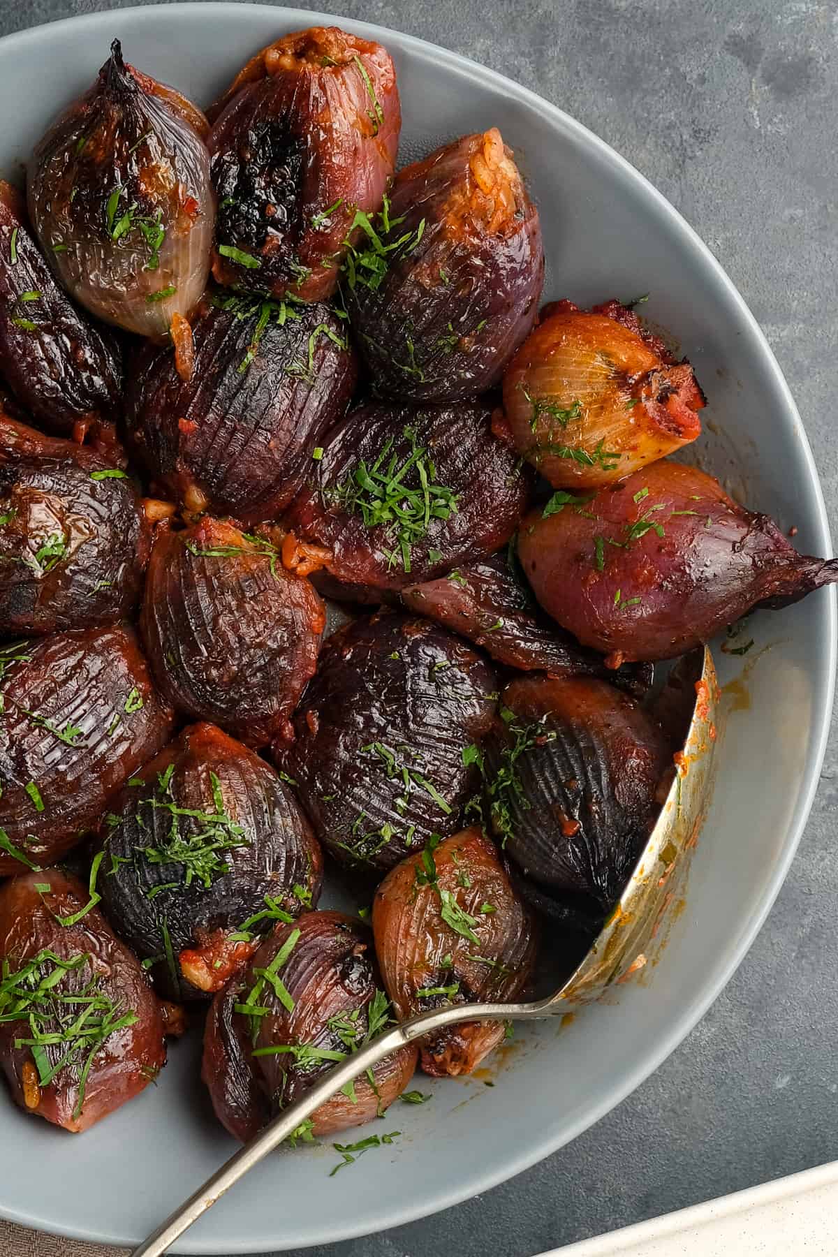
<svg viewBox="0 0 838 1257">
<path fill-rule="evenodd" d="M 452 634 L 427 620 L 364 617 L 328 639 L 276 763 L 338 862 L 391 869 L 431 833 L 457 828 L 476 784 L 462 752 L 489 728 L 495 701 L 494 672 Z M 415 779 L 406 786 L 402 768 L 442 803 Z"/>
</svg>

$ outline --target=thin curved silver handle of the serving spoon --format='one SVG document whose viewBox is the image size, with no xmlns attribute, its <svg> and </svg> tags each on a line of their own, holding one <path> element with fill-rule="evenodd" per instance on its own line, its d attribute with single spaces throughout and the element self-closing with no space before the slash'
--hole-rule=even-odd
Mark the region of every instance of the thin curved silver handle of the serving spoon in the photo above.
<svg viewBox="0 0 838 1257">
<path fill-rule="evenodd" d="M 131 1257 L 163 1257 L 175 1241 L 193 1222 L 197 1222 L 201 1214 L 206 1213 L 229 1188 L 244 1178 L 248 1170 L 251 1170 L 263 1156 L 273 1153 L 284 1139 L 288 1139 L 297 1130 L 300 1123 L 310 1117 L 340 1087 L 352 1082 L 364 1070 L 377 1065 L 391 1052 L 405 1047 L 406 1043 L 412 1043 L 422 1035 L 457 1022 L 508 1021 L 510 1017 L 536 1016 L 547 1016 L 547 1009 L 543 1011 L 539 1004 L 460 1004 L 452 1008 L 441 1008 L 438 1012 L 420 1013 L 418 1017 L 412 1017 L 401 1026 L 384 1031 L 366 1047 L 328 1070 L 305 1095 L 284 1109 L 273 1121 L 269 1121 L 264 1130 L 260 1130 L 244 1148 L 234 1153 L 153 1234 L 143 1241 L 138 1248 L 134 1248 Z"/>
</svg>

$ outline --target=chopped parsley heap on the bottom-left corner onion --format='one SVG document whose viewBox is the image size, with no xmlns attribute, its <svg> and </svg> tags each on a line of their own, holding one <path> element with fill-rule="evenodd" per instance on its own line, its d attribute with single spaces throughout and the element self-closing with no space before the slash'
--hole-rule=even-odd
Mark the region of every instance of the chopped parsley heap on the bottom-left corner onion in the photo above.
<svg viewBox="0 0 838 1257">
<path fill-rule="evenodd" d="M 0 979 L 0 1022 L 26 1024 L 29 1037 L 15 1038 L 14 1046 L 31 1050 L 41 1087 L 48 1087 L 64 1070 L 69 1072 L 78 1087 L 75 1119 L 84 1107 L 95 1057 L 112 1035 L 139 1019 L 134 1012 L 123 1012 L 104 993 L 101 977 L 82 980 L 82 970 L 90 959 L 88 953 L 59 957 L 45 948 L 15 973 L 9 959 L 4 959 Z M 75 985 L 69 982 L 72 973 L 78 975 Z"/>
</svg>

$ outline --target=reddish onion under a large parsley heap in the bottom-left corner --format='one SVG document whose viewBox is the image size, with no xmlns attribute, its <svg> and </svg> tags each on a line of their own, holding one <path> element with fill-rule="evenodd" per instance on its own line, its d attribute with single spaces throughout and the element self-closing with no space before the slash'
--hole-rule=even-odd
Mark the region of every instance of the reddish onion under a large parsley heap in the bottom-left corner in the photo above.
<svg viewBox="0 0 838 1257">
<path fill-rule="evenodd" d="M 84 911 L 88 900 L 58 869 L 0 889 L 0 1065 L 21 1109 L 72 1131 L 133 1099 L 166 1063 L 148 979 L 97 908 Z"/>
</svg>

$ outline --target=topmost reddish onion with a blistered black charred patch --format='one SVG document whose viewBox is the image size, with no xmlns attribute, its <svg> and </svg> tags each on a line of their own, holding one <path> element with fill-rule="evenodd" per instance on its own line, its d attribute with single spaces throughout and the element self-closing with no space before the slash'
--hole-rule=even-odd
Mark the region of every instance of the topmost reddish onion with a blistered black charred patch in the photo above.
<svg viewBox="0 0 838 1257">
<path fill-rule="evenodd" d="M 211 117 L 216 280 L 330 297 L 356 210 L 378 210 L 393 173 L 401 107 L 389 54 L 337 26 L 284 35 L 245 65 Z"/>
</svg>

